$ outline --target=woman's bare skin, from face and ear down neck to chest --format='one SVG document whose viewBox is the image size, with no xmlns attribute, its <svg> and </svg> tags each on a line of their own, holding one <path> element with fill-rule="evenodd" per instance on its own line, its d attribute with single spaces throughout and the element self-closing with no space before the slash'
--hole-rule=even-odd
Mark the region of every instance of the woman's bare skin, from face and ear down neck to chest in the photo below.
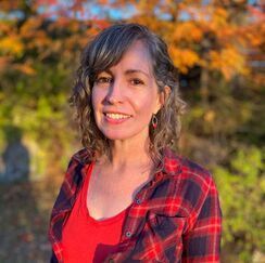
<svg viewBox="0 0 265 263">
<path fill-rule="evenodd" d="M 131 44 L 117 65 L 97 77 L 92 89 L 94 119 L 111 140 L 112 158 L 102 156 L 92 170 L 87 207 L 94 219 L 123 211 L 151 179 L 149 123 L 163 101 L 164 92 L 159 92 L 150 55 L 140 41 Z"/>
</svg>

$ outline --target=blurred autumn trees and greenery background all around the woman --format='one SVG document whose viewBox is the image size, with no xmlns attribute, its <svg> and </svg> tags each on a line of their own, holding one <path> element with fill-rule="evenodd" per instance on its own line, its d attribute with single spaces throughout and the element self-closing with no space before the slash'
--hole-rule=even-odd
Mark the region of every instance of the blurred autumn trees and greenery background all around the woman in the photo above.
<svg viewBox="0 0 265 263">
<path fill-rule="evenodd" d="M 162 36 L 179 68 L 177 150 L 214 174 L 222 261 L 265 262 L 264 12 L 262 0 L 1 0 L 0 262 L 48 262 L 50 211 L 81 147 L 67 104 L 80 52 L 119 22 Z"/>
</svg>

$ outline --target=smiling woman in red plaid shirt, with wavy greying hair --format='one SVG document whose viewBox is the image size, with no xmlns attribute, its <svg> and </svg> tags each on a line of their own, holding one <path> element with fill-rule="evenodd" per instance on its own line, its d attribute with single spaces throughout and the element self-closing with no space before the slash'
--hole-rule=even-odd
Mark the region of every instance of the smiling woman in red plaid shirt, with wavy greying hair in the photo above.
<svg viewBox="0 0 265 263">
<path fill-rule="evenodd" d="M 184 103 L 163 40 L 138 24 L 85 49 L 71 97 L 84 148 L 52 210 L 51 262 L 218 262 L 212 176 L 172 148 Z"/>
</svg>

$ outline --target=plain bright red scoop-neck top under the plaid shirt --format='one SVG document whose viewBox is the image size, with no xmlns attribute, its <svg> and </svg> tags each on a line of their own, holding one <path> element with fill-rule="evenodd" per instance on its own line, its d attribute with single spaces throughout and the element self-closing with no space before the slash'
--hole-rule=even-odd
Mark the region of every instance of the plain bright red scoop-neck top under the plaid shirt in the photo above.
<svg viewBox="0 0 265 263">
<path fill-rule="evenodd" d="M 86 202 L 91 172 L 92 165 L 88 169 L 81 190 L 63 227 L 64 263 L 101 263 L 110 253 L 117 250 L 128 209 L 101 221 L 91 218 Z"/>
</svg>

